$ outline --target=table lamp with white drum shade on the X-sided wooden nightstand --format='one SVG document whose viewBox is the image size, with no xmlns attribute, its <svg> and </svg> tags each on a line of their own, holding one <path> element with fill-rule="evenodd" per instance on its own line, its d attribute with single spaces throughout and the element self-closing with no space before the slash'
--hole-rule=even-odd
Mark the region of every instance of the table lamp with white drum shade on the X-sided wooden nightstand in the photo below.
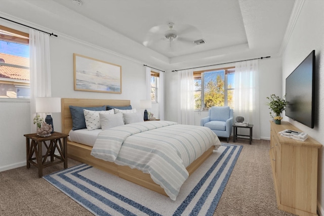
<svg viewBox="0 0 324 216">
<path fill-rule="evenodd" d="M 54 132 L 53 118 L 51 113 L 61 112 L 61 98 L 35 98 L 36 113 L 46 113 L 45 122 L 52 125 L 52 132 Z"/>
</svg>

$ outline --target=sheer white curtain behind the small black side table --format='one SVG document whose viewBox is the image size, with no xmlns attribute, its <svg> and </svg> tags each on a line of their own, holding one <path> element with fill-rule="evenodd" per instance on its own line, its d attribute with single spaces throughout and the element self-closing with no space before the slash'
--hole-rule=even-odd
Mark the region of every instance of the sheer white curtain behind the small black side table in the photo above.
<svg viewBox="0 0 324 216">
<path fill-rule="evenodd" d="M 234 89 L 234 119 L 243 116 L 244 121 L 254 125 L 253 138 L 260 139 L 258 60 L 235 64 Z M 246 131 L 241 130 L 239 134 L 245 134 Z"/>
</svg>

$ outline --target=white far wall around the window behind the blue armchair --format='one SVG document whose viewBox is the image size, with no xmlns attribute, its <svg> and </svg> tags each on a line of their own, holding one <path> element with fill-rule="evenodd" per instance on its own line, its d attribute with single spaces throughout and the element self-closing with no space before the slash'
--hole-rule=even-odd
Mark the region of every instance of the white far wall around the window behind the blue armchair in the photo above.
<svg viewBox="0 0 324 216">
<path fill-rule="evenodd" d="M 231 64 L 218 65 L 217 67 L 204 67 L 197 68 L 199 71 L 202 69 L 215 69 L 220 67 L 230 67 Z M 177 113 L 177 72 L 167 71 L 166 76 L 166 119 L 170 121 L 178 121 Z M 265 105 L 267 102 L 266 97 L 271 94 L 282 96 L 281 94 L 281 58 L 271 57 L 259 60 L 259 107 L 260 107 L 260 136 L 261 139 L 270 139 L 270 110 Z M 235 110 L 234 110 L 235 112 Z M 206 117 L 208 111 L 195 111 L 195 125 L 200 125 L 200 119 Z"/>
</svg>

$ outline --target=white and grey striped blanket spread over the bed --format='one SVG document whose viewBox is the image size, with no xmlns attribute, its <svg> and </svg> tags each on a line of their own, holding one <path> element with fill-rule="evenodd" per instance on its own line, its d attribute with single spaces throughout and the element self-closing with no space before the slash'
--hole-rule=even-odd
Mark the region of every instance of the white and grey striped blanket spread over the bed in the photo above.
<svg viewBox="0 0 324 216">
<path fill-rule="evenodd" d="M 91 155 L 150 174 L 176 200 L 189 176 L 186 167 L 213 145 L 221 143 L 208 127 L 146 121 L 100 132 Z"/>
</svg>

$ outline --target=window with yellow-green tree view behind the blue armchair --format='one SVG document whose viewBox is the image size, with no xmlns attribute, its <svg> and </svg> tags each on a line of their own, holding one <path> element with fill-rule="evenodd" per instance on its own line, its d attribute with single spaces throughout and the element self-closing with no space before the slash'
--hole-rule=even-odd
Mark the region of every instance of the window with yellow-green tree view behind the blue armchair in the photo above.
<svg viewBox="0 0 324 216">
<path fill-rule="evenodd" d="M 194 109 L 208 110 L 212 106 L 234 107 L 235 68 L 194 71 Z"/>
</svg>

